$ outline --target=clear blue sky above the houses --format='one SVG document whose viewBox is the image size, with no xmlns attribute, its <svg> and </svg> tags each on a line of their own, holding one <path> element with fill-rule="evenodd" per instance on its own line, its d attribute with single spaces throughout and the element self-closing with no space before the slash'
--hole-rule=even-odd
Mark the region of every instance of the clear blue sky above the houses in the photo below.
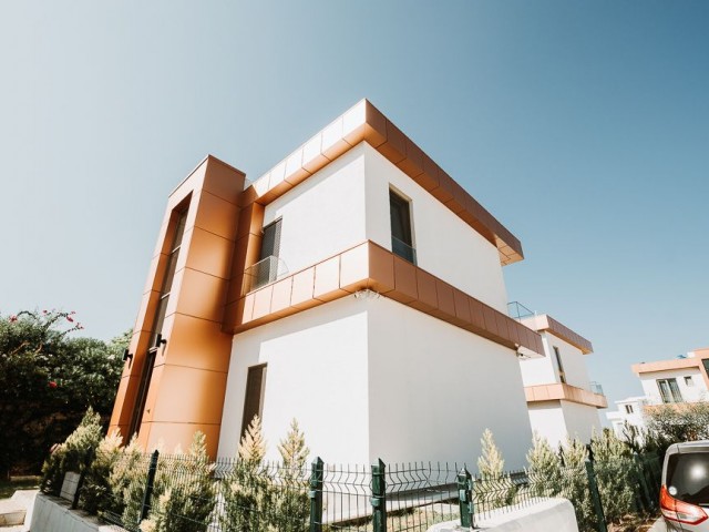
<svg viewBox="0 0 709 532">
<path fill-rule="evenodd" d="M 205 154 L 258 176 L 367 96 L 520 237 L 510 299 L 612 400 L 709 346 L 709 2 L 4 0 L 0 65 L 3 314 L 132 327 Z"/>
</svg>

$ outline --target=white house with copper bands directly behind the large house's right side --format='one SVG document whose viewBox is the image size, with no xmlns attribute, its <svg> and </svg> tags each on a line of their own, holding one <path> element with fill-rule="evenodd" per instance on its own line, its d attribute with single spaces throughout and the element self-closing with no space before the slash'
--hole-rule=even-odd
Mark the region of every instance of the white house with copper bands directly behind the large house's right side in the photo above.
<svg viewBox="0 0 709 532">
<path fill-rule="evenodd" d="M 588 379 L 584 357 L 593 352 L 590 341 L 517 303 L 511 304 L 511 315 L 542 336 L 546 355 L 520 358 L 532 429 L 554 447 L 567 436 L 589 442 L 594 429 L 600 431 L 598 409 L 608 406 L 600 386 Z"/>
</svg>

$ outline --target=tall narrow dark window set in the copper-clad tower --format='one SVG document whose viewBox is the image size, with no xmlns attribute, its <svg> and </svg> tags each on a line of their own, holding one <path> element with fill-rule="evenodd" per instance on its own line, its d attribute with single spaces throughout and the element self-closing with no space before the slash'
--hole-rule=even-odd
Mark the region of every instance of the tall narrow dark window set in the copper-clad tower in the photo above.
<svg viewBox="0 0 709 532">
<path fill-rule="evenodd" d="M 174 222 L 175 233 L 173 235 L 172 245 L 169 246 L 169 256 L 167 257 L 167 264 L 165 266 L 165 277 L 163 278 L 160 299 L 153 318 L 153 328 L 150 337 L 151 341 L 148 344 L 151 348 L 145 355 L 145 361 L 143 362 L 135 408 L 133 409 L 133 416 L 131 417 L 131 424 L 129 427 L 129 436 L 136 433 L 141 428 L 141 422 L 143 421 L 143 411 L 145 410 L 145 401 L 147 400 L 147 390 L 151 387 L 153 366 L 155 364 L 155 355 L 157 354 L 157 335 L 162 332 L 163 325 L 165 323 L 165 311 L 167 310 L 167 301 L 173 287 L 173 280 L 175 278 L 175 268 L 177 266 L 177 257 L 179 256 L 179 247 L 182 246 L 182 237 L 185 233 L 186 221 L 187 208 L 185 207 L 182 211 L 176 212 L 176 219 Z"/>
</svg>

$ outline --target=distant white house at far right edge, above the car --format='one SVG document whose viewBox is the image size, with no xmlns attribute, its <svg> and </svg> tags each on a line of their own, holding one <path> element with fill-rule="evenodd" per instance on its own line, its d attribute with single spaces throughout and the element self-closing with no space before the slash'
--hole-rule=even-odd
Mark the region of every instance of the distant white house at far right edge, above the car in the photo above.
<svg viewBox="0 0 709 532">
<path fill-rule="evenodd" d="M 709 400 L 709 348 L 656 362 L 633 365 L 648 405 Z"/>
</svg>

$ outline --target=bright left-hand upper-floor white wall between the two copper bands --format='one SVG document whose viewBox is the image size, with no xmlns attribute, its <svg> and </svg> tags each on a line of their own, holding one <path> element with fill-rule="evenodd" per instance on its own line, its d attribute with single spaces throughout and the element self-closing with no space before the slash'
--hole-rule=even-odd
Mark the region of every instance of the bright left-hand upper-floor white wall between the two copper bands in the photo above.
<svg viewBox="0 0 709 532">
<path fill-rule="evenodd" d="M 282 217 L 279 257 L 289 273 L 364 242 L 364 145 L 268 204 L 264 225 L 278 217 Z"/>
</svg>

